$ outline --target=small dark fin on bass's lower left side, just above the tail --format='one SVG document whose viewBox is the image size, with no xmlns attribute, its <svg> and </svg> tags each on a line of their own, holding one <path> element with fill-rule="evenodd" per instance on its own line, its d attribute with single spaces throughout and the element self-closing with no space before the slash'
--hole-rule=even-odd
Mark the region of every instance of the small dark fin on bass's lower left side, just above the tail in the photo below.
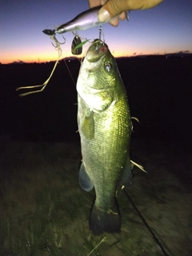
<svg viewBox="0 0 192 256">
<path fill-rule="evenodd" d="M 84 166 L 83 162 L 79 170 L 79 185 L 82 187 L 82 190 L 89 192 L 93 190 L 94 184 L 90 180 L 89 174 L 86 172 L 86 167 Z"/>
</svg>

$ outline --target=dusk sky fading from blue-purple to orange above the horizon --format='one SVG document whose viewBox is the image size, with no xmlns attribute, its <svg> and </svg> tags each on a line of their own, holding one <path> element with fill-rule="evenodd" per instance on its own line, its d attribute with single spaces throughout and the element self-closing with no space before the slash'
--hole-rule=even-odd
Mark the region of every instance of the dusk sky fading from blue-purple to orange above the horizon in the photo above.
<svg viewBox="0 0 192 256">
<path fill-rule="evenodd" d="M 42 30 L 53 30 L 87 9 L 87 0 L 0 0 L 0 62 L 56 60 L 58 53 L 52 40 Z M 192 52 L 191 0 L 164 0 L 150 10 L 132 10 L 129 17 L 129 22 L 121 21 L 118 27 L 102 26 L 114 57 Z M 78 34 L 81 38 L 98 38 L 98 27 Z M 72 55 L 74 35 L 62 35 L 66 38 L 62 45 L 64 58 Z M 57 35 L 60 42 L 62 35 Z M 83 47 L 83 54 L 87 47 Z"/>
</svg>

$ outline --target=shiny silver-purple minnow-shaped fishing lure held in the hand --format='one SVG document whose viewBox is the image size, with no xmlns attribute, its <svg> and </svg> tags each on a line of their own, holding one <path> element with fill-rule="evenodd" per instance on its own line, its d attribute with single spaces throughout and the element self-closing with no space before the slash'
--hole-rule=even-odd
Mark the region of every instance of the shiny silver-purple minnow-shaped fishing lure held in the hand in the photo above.
<svg viewBox="0 0 192 256">
<path fill-rule="evenodd" d="M 56 28 L 56 30 L 43 30 L 42 32 L 47 35 L 54 35 L 56 33 L 62 34 L 69 31 L 74 30 L 87 30 L 94 26 L 101 26 L 106 22 L 110 22 L 112 19 L 107 20 L 106 22 L 100 22 L 98 20 L 98 10 L 101 9 L 102 6 L 96 6 L 89 10 L 83 11 L 81 14 L 78 14 L 75 18 L 73 18 L 70 22 L 66 22 Z"/>
</svg>

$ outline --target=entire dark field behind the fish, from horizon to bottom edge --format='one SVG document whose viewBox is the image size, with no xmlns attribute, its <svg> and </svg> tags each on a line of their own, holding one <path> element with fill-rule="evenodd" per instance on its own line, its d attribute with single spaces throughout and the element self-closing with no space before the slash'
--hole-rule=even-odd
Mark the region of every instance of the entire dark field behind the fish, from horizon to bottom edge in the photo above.
<svg viewBox="0 0 192 256">
<path fill-rule="evenodd" d="M 6 256 L 192 255 L 191 57 L 118 59 L 134 122 L 134 183 L 118 191 L 121 234 L 88 227 L 94 191 L 78 185 L 80 62 L 0 66 L 0 252 Z"/>
</svg>

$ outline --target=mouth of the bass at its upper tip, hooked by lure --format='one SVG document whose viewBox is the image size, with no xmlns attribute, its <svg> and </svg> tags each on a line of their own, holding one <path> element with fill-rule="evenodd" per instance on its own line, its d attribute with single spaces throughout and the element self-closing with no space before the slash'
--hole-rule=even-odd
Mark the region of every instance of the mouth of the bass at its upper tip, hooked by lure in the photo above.
<svg viewBox="0 0 192 256">
<path fill-rule="evenodd" d="M 86 54 L 86 59 L 88 62 L 98 62 L 102 57 L 104 57 L 107 51 L 108 46 L 106 43 L 99 39 L 95 39 Z"/>
</svg>

